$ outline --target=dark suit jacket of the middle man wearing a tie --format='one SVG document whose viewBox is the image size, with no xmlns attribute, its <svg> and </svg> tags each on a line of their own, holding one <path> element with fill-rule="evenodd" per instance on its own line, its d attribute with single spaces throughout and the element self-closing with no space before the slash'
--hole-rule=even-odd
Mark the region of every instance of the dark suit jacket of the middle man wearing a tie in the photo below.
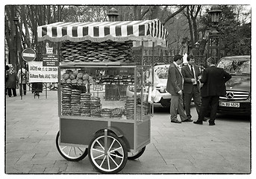
<svg viewBox="0 0 256 179">
<path fill-rule="evenodd" d="M 193 69 L 195 71 L 195 76 L 196 76 L 196 80 L 197 80 L 199 78 L 199 75 L 200 75 L 199 66 L 194 65 Z M 184 78 L 183 92 L 184 93 L 191 93 L 192 90 L 193 90 L 193 84 L 191 82 L 191 79 L 194 78 L 194 77 L 193 77 L 193 74 L 191 72 L 190 65 L 187 64 L 186 66 L 183 66 L 182 69 L 181 69 L 181 73 L 182 73 L 183 78 Z M 197 81 L 196 84 L 197 84 L 197 87 L 199 89 L 199 82 Z"/>
</svg>

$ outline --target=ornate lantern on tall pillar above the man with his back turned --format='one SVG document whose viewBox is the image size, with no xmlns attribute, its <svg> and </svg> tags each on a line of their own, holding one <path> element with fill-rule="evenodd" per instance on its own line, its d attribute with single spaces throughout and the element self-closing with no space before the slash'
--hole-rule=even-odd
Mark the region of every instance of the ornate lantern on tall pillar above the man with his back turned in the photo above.
<svg viewBox="0 0 256 179">
<path fill-rule="evenodd" d="M 211 22 L 213 23 L 213 31 L 209 33 L 209 41 L 208 41 L 208 53 L 207 57 L 214 57 L 217 62 L 220 57 L 219 50 L 219 32 L 217 31 L 217 26 L 219 24 L 219 14 L 222 13 L 222 10 L 219 5 L 213 5 L 210 7 Z M 206 62 L 205 62 L 206 65 Z"/>
</svg>

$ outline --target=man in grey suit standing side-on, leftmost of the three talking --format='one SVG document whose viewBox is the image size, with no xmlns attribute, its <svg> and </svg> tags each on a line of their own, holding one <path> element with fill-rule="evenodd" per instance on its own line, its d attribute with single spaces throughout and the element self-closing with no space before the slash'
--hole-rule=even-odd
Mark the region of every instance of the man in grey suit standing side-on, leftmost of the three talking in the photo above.
<svg viewBox="0 0 256 179">
<path fill-rule="evenodd" d="M 181 75 L 181 69 L 178 69 L 178 66 L 182 63 L 182 61 L 182 55 L 175 55 L 173 62 L 169 65 L 168 79 L 166 84 L 166 91 L 172 95 L 170 106 L 171 122 L 175 123 L 192 122 L 192 120 L 187 119 L 183 109 L 183 77 Z M 177 111 L 180 115 L 181 121 L 179 121 L 177 118 Z"/>
</svg>

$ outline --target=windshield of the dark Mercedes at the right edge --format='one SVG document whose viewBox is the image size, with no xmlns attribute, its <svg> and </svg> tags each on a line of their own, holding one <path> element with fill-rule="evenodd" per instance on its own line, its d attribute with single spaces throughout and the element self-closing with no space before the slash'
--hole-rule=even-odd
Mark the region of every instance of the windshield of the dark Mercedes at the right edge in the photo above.
<svg viewBox="0 0 256 179">
<path fill-rule="evenodd" d="M 250 74 L 250 60 L 240 59 L 222 59 L 218 64 L 219 68 L 225 69 L 226 72 L 231 74 Z"/>
</svg>

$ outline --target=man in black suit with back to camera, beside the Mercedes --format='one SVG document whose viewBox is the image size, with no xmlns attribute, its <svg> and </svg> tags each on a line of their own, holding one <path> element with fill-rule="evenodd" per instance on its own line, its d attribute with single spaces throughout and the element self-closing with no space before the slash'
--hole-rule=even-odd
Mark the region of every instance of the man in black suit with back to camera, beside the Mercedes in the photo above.
<svg viewBox="0 0 256 179">
<path fill-rule="evenodd" d="M 210 106 L 210 120 L 209 125 L 215 125 L 217 107 L 219 104 L 219 96 L 225 95 L 227 82 L 231 75 L 225 72 L 224 69 L 215 66 L 213 57 L 207 59 L 207 66 L 199 81 L 203 84 L 201 88 L 202 105 L 199 111 L 199 119 L 194 122 L 197 125 L 203 124 L 203 119 L 207 114 Z"/>
</svg>

